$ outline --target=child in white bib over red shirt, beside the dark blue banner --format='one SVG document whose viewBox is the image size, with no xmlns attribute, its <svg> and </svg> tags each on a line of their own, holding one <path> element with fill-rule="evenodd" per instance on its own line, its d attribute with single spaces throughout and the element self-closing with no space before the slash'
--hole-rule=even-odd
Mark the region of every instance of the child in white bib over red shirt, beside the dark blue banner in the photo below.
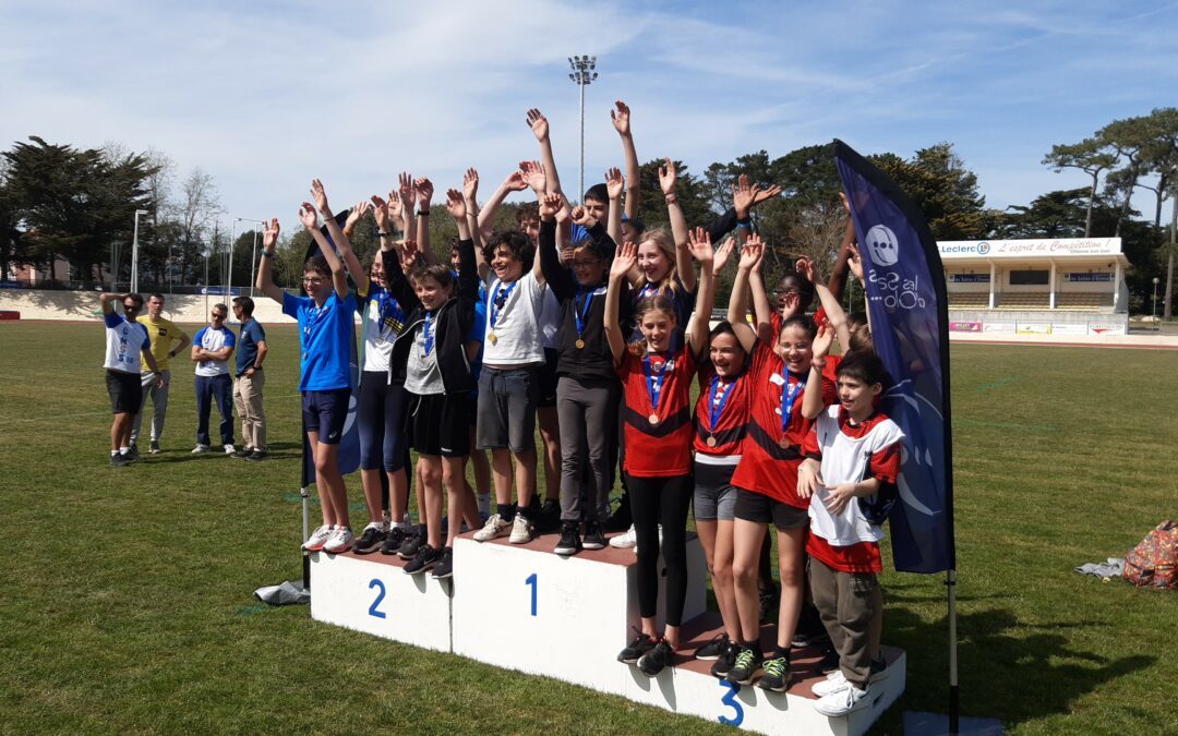
<svg viewBox="0 0 1178 736">
<path fill-rule="evenodd" d="M 810 380 L 821 377 L 830 334 L 822 330 L 814 342 Z M 871 707 L 871 683 L 887 676 L 879 656 L 884 513 L 878 499 L 895 497 L 904 432 L 875 409 L 885 383 L 879 356 L 853 351 L 838 367 L 838 403 L 823 406 L 807 396 L 802 404 L 802 413 L 815 418 L 798 473 L 798 492 L 810 499 L 810 594 L 839 652 L 839 669 L 813 688 L 815 710 L 828 717 Z"/>
</svg>

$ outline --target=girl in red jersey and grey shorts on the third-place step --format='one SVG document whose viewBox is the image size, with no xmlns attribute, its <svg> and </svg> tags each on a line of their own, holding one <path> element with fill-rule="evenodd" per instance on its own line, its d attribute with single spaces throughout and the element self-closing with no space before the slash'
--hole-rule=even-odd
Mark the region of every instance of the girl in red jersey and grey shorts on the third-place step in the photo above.
<svg viewBox="0 0 1178 736">
<path fill-rule="evenodd" d="M 720 257 L 717 254 L 717 263 Z M 695 652 L 716 659 L 712 674 L 723 677 L 735 662 L 733 642 L 741 638 L 733 588 L 733 512 L 736 489 L 733 472 L 740 462 L 750 403 L 748 353 L 733 326 L 722 321 L 712 330 L 710 360 L 700 366 L 700 398 L 695 404 L 695 531 L 712 573 L 724 631 Z"/>
</svg>

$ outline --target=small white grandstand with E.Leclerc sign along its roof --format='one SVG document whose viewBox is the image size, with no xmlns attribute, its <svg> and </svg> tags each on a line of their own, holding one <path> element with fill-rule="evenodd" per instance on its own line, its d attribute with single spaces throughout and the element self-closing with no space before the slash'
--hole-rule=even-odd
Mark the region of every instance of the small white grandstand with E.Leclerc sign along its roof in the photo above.
<svg viewBox="0 0 1178 736">
<path fill-rule="evenodd" d="M 1125 334 L 1120 238 L 944 240 L 949 330 Z"/>
</svg>

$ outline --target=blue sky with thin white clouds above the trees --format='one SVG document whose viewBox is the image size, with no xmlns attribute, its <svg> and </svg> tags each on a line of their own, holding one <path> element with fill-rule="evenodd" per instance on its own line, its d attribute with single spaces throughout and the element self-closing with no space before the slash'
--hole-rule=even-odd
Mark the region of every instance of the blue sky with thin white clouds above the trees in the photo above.
<svg viewBox="0 0 1178 736">
<path fill-rule="evenodd" d="M 489 192 L 536 157 L 534 106 L 571 191 L 574 54 L 601 74 L 587 181 L 622 164 L 623 99 L 642 160 L 700 172 L 832 138 L 901 155 L 947 140 L 994 207 L 1083 186 L 1040 164 L 1051 146 L 1178 89 L 1178 2 L 0 0 L 0 144 L 155 148 L 214 177 L 223 223 L 286 232 L 312 177 L 337 208 L 402 170 L 444 190 L 476 166 Z"/>
</svg>

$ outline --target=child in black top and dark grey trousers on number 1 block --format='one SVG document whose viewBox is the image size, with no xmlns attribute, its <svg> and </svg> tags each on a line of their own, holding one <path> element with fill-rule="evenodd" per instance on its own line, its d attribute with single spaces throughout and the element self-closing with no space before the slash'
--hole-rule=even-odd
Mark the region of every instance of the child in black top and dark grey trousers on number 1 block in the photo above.
<svg viewBox="0 0 1178 736">
<path fill-rule="evenodd" d="M 561 305 L 556 411 L 561 423 L 561 538 L 557 555 L 605 546 L 603 525 L 613 486 L 609 445 L 617 425 L 618 382 L 604 336 L 605 286 L 616 245 L 584 207 L 571 218 L 589 233 L 573 251 L 573 272 L 561 266 L 556 219 L 561 194 L 540 203 L 540 265 Z M 623 281 L 620 285 L 627 290 Z M 628 298 L 621 299 L 629 304 Z M 627 310 L 629 311 L 629 310 Z M 588 472 L 587 472 L 588 471 Z M 584 537 L 581 523 L 584 522 Z"/>
</svg>

